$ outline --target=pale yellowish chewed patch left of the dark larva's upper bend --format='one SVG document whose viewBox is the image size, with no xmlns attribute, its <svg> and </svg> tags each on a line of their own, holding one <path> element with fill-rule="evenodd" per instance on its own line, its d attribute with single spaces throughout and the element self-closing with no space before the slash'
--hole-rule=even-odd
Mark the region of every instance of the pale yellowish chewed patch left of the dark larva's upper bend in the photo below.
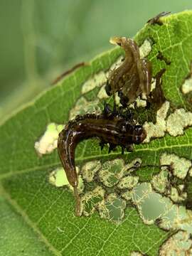
<svg viewBox="0 0 192 256">
<path fill-rule="evenodd" d="M 35 142 L 35 149 L 39 156 L 50 154 L 58 147 L 58 134 L 62 131 L 63 124 L 50 123 L 46 127 L 46 132 Z"/>
</svg>

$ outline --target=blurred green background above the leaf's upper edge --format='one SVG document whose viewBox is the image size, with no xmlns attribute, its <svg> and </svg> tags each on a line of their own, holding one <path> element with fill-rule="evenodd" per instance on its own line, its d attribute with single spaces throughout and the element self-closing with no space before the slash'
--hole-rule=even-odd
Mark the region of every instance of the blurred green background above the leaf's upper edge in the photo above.
<svg viewBox="0 0 192 256">
<path fill-rule="evenodd" d="M 0 122 L 51 86 L 60 73 L 133 37 L 161 11 L 191 0 L 0 0 Z"/>
</svg>

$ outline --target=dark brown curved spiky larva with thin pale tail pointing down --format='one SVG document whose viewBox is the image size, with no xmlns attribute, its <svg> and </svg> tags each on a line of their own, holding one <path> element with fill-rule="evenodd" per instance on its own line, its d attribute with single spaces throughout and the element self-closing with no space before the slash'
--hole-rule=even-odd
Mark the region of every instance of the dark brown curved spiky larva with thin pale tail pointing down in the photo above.
<svg viewBox="0 0 192 256">
<path fill-rule="evenodd" d="M 68 177 L 68 181 L 74 188 L 77 200 L 76 215 L 80 215 L 80 198 L 78 196 L 78 174 L 75 169 L 75 148 L 83 139 L 97 137 L 100 146 L 110 144 L 110 150 L 116 146 L 132 151 L 132 144 L 140 144 L 146 138 L 146 132 L 140 125 L 135 125 L 131 114 L 111 112 L 105 105 L 101 115 L 85 114 L 68 122 L 58 137 L 58 154 Z"/>
</svg>

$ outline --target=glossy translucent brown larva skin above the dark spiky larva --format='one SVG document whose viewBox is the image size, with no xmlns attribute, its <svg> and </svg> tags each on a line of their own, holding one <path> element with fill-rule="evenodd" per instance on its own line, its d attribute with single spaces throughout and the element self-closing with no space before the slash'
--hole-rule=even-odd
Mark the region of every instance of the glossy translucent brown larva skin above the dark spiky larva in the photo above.
<svg viewBox="0 0 192 256">
<path fill-rule="evenodd" d="M 114 37 L 115 43 L 124 49 L 124 61 L 119 68 L 112 70 L 107 80 L 108 95 L 119 92 L 122 95 L 122 105 L 130 104 L 144 93 L 149 95 L 151 90 L 152 68 L 149 60 L 140 58 L 137 43 L 130 38 Z M 124 102 L 125 100 L 125 102 Z"/>
</svg>

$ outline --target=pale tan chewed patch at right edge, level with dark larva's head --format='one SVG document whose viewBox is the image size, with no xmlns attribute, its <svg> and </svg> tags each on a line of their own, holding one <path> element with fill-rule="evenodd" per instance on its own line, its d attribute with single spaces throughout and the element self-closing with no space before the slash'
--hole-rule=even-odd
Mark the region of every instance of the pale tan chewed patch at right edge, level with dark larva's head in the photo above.
<svg viewBox="0 0 192 256">
<path fill-rule="evenodd" d="M 192 125 L 192 113 L 184 109 L 178 109 L 170 114 L 166 121 L 167 132 L 171 136 L 178 136 L 184 133 L 184 128 Z"/>
</svg>

